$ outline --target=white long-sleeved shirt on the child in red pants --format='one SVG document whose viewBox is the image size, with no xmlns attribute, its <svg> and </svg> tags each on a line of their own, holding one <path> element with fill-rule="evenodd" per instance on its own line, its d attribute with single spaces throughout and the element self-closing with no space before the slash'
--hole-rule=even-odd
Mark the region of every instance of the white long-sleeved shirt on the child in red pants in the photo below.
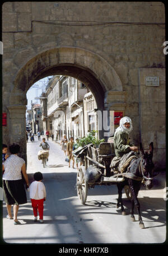
<svg viewBox="0 0 168 256">
<path fill-rule="evenodd" d="M 46 198 L 46 190 L 43 182 L 33 181 L 29 187 L 30 198 L 35 200 L 40 200 Z"/>
</svg>

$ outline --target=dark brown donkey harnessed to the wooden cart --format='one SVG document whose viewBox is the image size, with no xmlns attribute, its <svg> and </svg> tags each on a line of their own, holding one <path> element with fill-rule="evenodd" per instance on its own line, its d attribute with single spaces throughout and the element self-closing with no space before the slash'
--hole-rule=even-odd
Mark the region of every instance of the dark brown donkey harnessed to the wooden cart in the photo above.
<svg viewBox="0 0 168 256">
<path fill-rule="evenodd" d="M 152 170 L 154 164 L 152 162 L 153 157 L 153 143 L 150 144 L 150 153 L 145 152 L 142 148 L 142 144 L 140 144 L 141 154 L 139 157 L 132 159 L 130 162 L 127 172 L 123 173 L 125 176 L 124 181 L 118 182 L 118 203 L 116 204 L 116 208 L 121 205 L 122 214 L 125 215 L 125 209 L 122 202 L 122 189 L 125 185 L 129 185 L 130 194 L 131 194 L 131 211 L 130 218 L 132 221 L 135 221 L 134 217 L 134 206 L 137 208 L 138 218 L 139 218 L 139 227 L 144 228 L 144 223 L 142 221 L 140 205 L 138 201 L 138 192 L 141 188 L 142 182 L 146 185 L 147 189 L 151 189 L 153 186 L 153 178 L 152 178 Z"/>
</svg>

